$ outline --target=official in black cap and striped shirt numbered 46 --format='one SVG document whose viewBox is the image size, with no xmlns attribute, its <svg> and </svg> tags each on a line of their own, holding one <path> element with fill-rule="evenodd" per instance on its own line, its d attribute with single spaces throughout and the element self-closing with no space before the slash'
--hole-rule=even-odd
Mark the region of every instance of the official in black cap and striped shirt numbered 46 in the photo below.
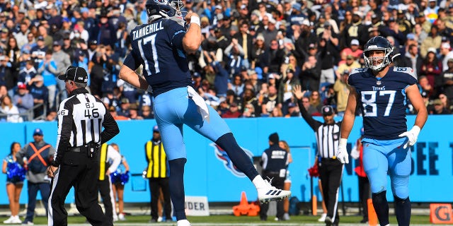
<svg viewBox="0 0 453 226">
<path fill-rule="evenodd" d="M 120 129 L 103 102 L 85 89 L 85 69 L 69 66 L 58 78 L 64 80 L 69 97 L 59 105 L 57 154 L 47 168 L 53 177 L 48 225 L 67 225 L 64 200 L 71 186 L 77 210 L 91 225 L 113 225 L 98 204 L 98 149 Z"/>
</svg>

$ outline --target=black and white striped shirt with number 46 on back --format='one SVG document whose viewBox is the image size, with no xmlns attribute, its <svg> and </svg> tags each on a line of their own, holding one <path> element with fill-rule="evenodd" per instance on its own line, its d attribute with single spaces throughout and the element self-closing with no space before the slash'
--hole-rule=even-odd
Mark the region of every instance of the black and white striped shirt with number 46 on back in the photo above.
<svg viewBox="0 0 453 226">
<path fill-rule="evenodd" d="M 57 157 L 52 165 L 59 165 L 68 148 L 105 143 L 120 132 L 103 102 L 85 88 L 73 90 L 59 105 L 57 115 Z"/>
</svg>

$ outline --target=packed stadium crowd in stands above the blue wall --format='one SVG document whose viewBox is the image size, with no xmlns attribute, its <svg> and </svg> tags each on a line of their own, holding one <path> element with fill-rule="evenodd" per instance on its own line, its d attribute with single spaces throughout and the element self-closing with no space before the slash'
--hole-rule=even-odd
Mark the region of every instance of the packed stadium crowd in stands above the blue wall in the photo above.
<svg viewBox="0 0 453 226">
<path fill-rule="evenodd" d="M 0 0 L 1 121 L 55 120 L 67 97 L 57 76 L 69 65 L 89 72 L 115 119 L 154 118 L 152 94 L 117 78 L 145 4 Z M 187 56 L 193 85 L 224 118 L 299 117 L 294 85 L 309 91 L 310 114 L 332 105 L 342 115 L 350 70 L 364 66 L 362 46 L 376 35 L 394 45 L 394 66 L 418 75 L 429 113 L 452 114 L 452 0 L 185 0 L 183 11 L 201 16 L 204 38 Z"/>
</svg>

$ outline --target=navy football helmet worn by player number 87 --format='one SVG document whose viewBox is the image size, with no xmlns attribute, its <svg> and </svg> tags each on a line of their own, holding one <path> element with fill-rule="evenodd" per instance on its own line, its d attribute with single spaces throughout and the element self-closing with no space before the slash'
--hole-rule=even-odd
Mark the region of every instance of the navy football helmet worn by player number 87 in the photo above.
<svg viewBox="0 0 453 226">
<path fill-rule="evenodd" d="M 373 71 L 382 71 L 382 69 L 393 61 L 394 47 L 385 37 L 372 37 L 363 48 L 365 66 Z M 384 57 L 369 57 L 372 50 L 382 50 Z"/>
</svg>

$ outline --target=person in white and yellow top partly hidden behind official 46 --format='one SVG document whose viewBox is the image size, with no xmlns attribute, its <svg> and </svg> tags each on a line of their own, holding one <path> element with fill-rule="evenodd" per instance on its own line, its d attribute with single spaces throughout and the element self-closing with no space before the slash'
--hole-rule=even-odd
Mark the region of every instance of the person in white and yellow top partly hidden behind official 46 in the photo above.
<svg viewBox="0 0 453 226">
<path fill-rule="evenodd" d="M 107 143 L 101 145 L 101 150 L 99 151 L 98 187 L 104 204 L 105 216 L 110 222 L 118 220 L 110 174 L 116 171 L 120 163 L 121 155 L 112 145 L 108 145 Z"/>
</svg>

